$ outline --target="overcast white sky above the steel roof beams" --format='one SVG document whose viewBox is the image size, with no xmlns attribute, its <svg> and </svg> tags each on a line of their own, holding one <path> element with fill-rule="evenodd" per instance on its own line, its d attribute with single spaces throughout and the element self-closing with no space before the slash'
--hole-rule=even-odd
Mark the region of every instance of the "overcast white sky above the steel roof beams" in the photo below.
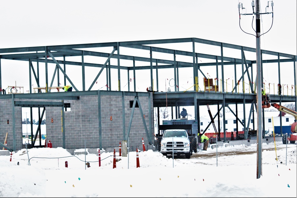
<svg viewBox="0 0 297 198">
<path fill-rule="evenodd" d="M 187 37 L 255 48 L 255 37 L 239 27 L 239 2 L 252 13 L 251 0 L 2 1 L 0 48 Z M 261 49 L 296 55 L 296 0 L 273 2 L 273 25 L 261 36 Z M 262 13 L 267 5 L 260 1 Z M 261 15 L 261 33 L 270 28 L 271 16 Z M 241 28 L 254 34 L 252 16 L 241 19 Z M 2 86 L 7 86 L 4 79 Z"/>
</svg>

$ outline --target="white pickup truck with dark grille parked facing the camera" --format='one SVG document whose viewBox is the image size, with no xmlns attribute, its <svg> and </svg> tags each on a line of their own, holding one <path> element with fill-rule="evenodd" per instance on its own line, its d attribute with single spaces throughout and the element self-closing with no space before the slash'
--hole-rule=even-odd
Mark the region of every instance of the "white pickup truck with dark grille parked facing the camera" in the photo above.
<svg viewBox="0 0 297 198">
<path fill-rule="evenodd" d="M 166 129 L 160 146 L 160 152 L 164 156 L 185 155 L 186 159 L 190 159 L 192 155 L 189 136 L 185 129 Z"/>
</svg>

